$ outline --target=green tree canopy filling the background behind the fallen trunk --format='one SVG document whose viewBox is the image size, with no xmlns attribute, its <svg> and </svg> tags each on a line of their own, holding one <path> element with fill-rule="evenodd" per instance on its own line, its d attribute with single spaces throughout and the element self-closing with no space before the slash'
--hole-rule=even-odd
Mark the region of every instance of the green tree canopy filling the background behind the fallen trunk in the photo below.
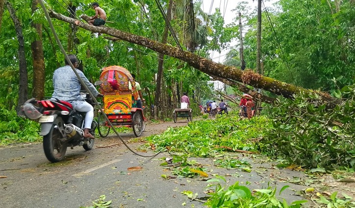
<svg viewBox="0 0 355 208">
<path fill-rule="evenodd" d="M 168 0 L 161 1 L 165 11 L 168 2 Z M 249 70 L 246 73 L 238 69 L 240 67 L 238 66 L 240 65 L 238 50 L 236 46 L 230 46 L 230 42 L 239 36 L 237 13 L 235 23 L 225 25 L 220 10 L 216 9 L 213 13 L 207 14 L 201 10 L 200 0 L 194 1 L 193 7 L 185 1 L 174 0 L 173 2 L 170 24 L 174 28 L 174 33 L 185 50 L 195 48 L 195 51 L 194 55 L 187 51 L 184 53 L 173 51 L 176 56 L 183 55 L 184 57 L 177 57 L 183 61 L 173 58 L 172 54 L 165 56 L 162 85 L 166 88 L 162 88 L 163 92 L 160 97 L 163 109 L 171 109 L 172 106 L 176 106 L 182 92 L 189 92 L 196 102 L 213 96 L 213 89 L 207 84 L 207 81 L 210 80 L 208 75 L 229 79 L 230 84 L 234 83 L 235 86 L 237 86 L 236 81 L 239 81 L 262 88 L 265 88 L 265 84 L 267 85 L 266 80 L 274 84 L 276 81 L 273 78 L 275 78 L 282 81 L 278 82 L 278 89 L 283 86 L 291 87 L 285 83 L 299 86 L 292 87 L 294 90 L 291 91 L 291 94 L 295 90 L 308 88 L 330 92 L 331 95 L 338 96 L 342 87 L 353 84 L 355 27 L 352 20 L 355 12 L 352 1 L 325 0 L 319 2 L 310 0 L 299 2 L 280 0 L 276 3 L 275 9 L 263 8 L 261 60 L 264 65 L 264 73 L 270 79 L 265 78 L 266 80 L 261 85 L 261 76 L 255 75 Z M 38 94 L 41 93 L 37 92 L 38 89 L 44 91 L 45 96 L 50 96 L 52 73 L 63 65 L 64 56 L 53 40 L 43 11 L 38 9 L 40 7 L 37 6 L 36 9 L 33 6 L 38 3 L 37 0 L 32 2 L 12 0 L 9 3 L 20 20 L 24 34 L 24 58 L 27 63 L 26 70 L 29 79 L 26 98 L 40 96 Z M 92 81 L 98 78 L 102 67 L 109 65 L 120 65 L 132 73 L 136 73 L 137 79 L 142 85 L 143 95 L 148 101 L 147 104 L 152 104 L 153 92 L 157 90 L 155 76 L 159 60 L 157 52 L 142 44 L 137 45 L 137 43 L 129 41 L 112 39 L 106 35 L 93 34 L 91 31 L 98 32 L 106 27 L 89 28 L 90 26 L 80 19 L 82 15 L 94 15 L 91 3 L 89 0 L 71 0 L 62 3 L 56 0 L 47 1 L 48 8 L 54 13 L 81 21 L 79 25 L 76 25 L 53 19 L 55 30 L 67 52 L 78 56 L 80 59 L 79 68 Z M 107 27 L 155 41 L 152 43 L 159 44 L 162 40 L 165 21 L 155 0 L 100 2 L 100 6 L 106 11 L 110 21 L 110 23 L 106 23 Z M 241 2 L 235 11 L 240 11 L 243 16 L 245 36 L 243 45 L 247 68 L 254 69 L 256 66 L 256 13 L 253 10 L 249 10 L 252 11 L 251 13 L 247 12 L 246 2 Z M 2 8 L 2 12 L 0 13 L 2 15 L 0 29 L 6 33 L 0 33 L 0 42 L 2 43 L 0 45 L 0 68 L 3 71 L 0 75 L 2 84 L 0 103 L 6 109 L 13 109 L 19 99 L 19 42 L 14 23 L 3 21 L 10 20 L 10 13 L 6 6 Z M 40 28 L 36 25 L 43 26 Z M 80 27 L 86 27 L 86 29 L 80 29 Z M 39 33 L 39 29 L 42 34 Z M 35 41 L 41 41 L 43 44 L 43 58 L 35 56 L 33 45 Z M 165 49 L 169 49 L 169 46 L 173 46 L 172 48 L 176 46 L 171 31 L 169 31 L 165 46 Z M 230 66 L 219 65 L 208 60 L 213 51 L 221 51 L 222 49 L 231 50 L 225 61 L 225 64 Z M 158 52 L 164 53 L 164 51 Z M 189 64 L 184 62 L 187 61 L 187 58 L 190 60 Z M 38 79 L 35 76 L 37 69 L 35 70 L 34 63 L 38 63 L 38 59 L 42 59 L 45 66 L 45 73 L 42 75 L 45 80 L 42 90 L 41 86 L 34 85 L 36 83 L 34 80 Z M 198 61 L 194 62 L 196 60 Z M 200 62 L 201 60 L 203 62 Z M 204 66 L 205 68 L 201 71 L 196 70 L 206 63 L 208 63 L 206 65 L 208 67 Z M 213 69 L 210 68 L 211 66 Z M 256 78 L 245 80 L 245 74 L 254 74 Z M 270 85 L 266 87 L 266 90 L 280 94 L 277 89 L 272 88 L 273 86 Z M 285 96 L 292 96 L 291 94 L 284 93 Z M 324 93 L 321 93 L 320 96 L 328 97 Z M 162 110 L 162 117 L 169 116 L 168 112 L 169 110 L 165 112 Z"/>
</svg>

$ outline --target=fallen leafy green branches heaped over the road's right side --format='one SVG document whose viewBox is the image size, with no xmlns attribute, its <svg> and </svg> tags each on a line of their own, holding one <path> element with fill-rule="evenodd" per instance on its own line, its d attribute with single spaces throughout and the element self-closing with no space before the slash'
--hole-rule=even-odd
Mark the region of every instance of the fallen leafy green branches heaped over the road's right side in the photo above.
<svg viewBox="0 0 355 208">
<path fill-rule="evenodd" d="M 355 207 L 352 196 L 345 192 L 324 191 L 324 186 L 315 189 L 315 183 L 324 181 L 331 174 L 339 182 L 353 182 L 355 151 L 354 86 L 339 90 L 341 103 L 329 108 L 317 96 L 299 94 L 294 100 L 278 98 L 278 104 L 264 109 L 262 116 L 240 119 L 237 112 L 218 115 L 215 119 L 203 117 L 189 122 L 187 126 L 168 128 L 161 135 L 145 138 L 145 148 L 167 150 L 171 159 L 163 158 L 162 166 L 171 167 L 177 177 L 208 177 L 208 170 L 190 157 L 215 158 L 214 165 L 228 169 L 251 172 L 249 162 L 230 157 L 227 152 L 266 155 L 278 161 L 277 167 L 305 171 L 308 180 L 294 177 L 279 179 L 294 184 L 309 186 L 296 194 L 306 197 L 308 203 L 317 207 Z M 174 155 L 176 154 L 176 155 Z M 169 179 L 164 175 L 162 178 Z M 287 204 L 276 197 L 276 189 L 250 190 L 246 186 L 222 185 L 225 179 L 216 175 L 208 182 L 214 190 L 204 205 L 208 207 L 301 207 L 305 201 Z M 280 192 L 283 191 L 283 187 Z M 323 191 L 322 191 L 323 190 Z M 252 191 L 253 192 L 253 191 Z M 183 192 L 190 199 L 197 196 Z M 265 203 L 262 204 L 261 202 Z M 262 205 L 261 205 L 261 204 Z M 253 205 L 253 206 L 248 206 Z M 303 206 L 303 205 L 302 205 Z"/>
</svg>

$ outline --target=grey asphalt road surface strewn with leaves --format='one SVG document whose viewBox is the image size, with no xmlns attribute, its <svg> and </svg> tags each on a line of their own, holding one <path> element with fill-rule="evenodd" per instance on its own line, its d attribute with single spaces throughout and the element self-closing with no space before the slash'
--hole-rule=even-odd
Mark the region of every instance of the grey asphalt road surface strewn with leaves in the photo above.
<svg viewBox="0 0 355 208">
<path fill-rule="evenodd" d="M 150 124 L 143 136 L 159 133 L 167 126 L 185 125 L 180 120 L 177 124 Z M 135 138 L 132 133 L 122 134 L 125 140 Z M 154 159 L 142 158 L 129 152 L 122 145 L 108 148 L 97 148 L 108 144 L 119 143 L 118 138 L 96 139 L 95 148 L 84 151 L 82 147 L 70 148 L 65 161 L 50 163 L 47 161 L 42 144 L 16 145 L 0 148 L 0 199 L 3 208 L 79 208 L 91 206 L 92 201 L 100 195 L 106 195 L 106 200 L 113 200 L 115 208 L 202 208 L 202 203 L 190 201 L 183 190 L 198 193 L 199 197 L 206 194 L 206 181 L 201 178 L 176 178 L 164 180 L 162 174 L 170 175 L 158 160 L 168 155 L 163 153 Z M 130 143 L 137 148 L 142 143 Z M 151 154 L 152 152 L 142 153 Z M 242 157 L 242 155 L 240 155 Z M 235 181 L 251 182 L 250 188 L 262 188 L 270 181 L 270 174 L 280 177 L 299 176 L 302 173 L 291 170 L 276 170 L 270 163 L 257 162 L 253 164 L 252 172 L 227 170 L 213 166 L 212 159 L 195 159 L 212 174 L 227 175 L 229 185 Z M 255 162 L 255 160 L 252 160 Z M 260 160 L 259 160 L 260 161 Z M 142 170 L 128 171 L 132 166 L 142 166 Z M 259 170 L 255 172 L 254 170 Z M 230 176 L 238 173 L 239 176 Z M 285 183 L 272 181 L 280 189 Z M 290 185 L 296 190 L 304 189 L 301 185 Z M 282 195 L 288 201 L 301 199 L 287 190 Z"/>
</svg>

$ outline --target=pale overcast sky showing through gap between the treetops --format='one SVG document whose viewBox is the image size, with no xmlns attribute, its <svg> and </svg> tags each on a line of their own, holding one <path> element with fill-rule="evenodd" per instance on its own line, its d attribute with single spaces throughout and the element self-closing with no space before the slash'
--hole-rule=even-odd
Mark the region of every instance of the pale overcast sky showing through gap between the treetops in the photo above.
<svg viewBox="0 0 355 208">
<path fill-rule="evenodd" d="M 234 21 L 234 18 L 237 17 L 238 11 L 232 11 L 237 7 L 237 4 L 242 2 L 242 1 L 247 1 L 249 3 L 249 6 L 251 7 L 252 10 L 255 10 L 258 6 L 258 0 L 203 0 L 202 4 L 202 9 L 206 13 L 210 13 L 211 9 L 211 4 L 212 9 L 211 9 L 211 14 L 215 12 L 216 8 L 220 8 L 221 14 L 224 15 L 224 21 L 225 25 L 230 24 Z M 264 4 L 266 7 L 272 7 L 272 4 L 277 2 L 279 0 L 264 0 Z M 262 6 L 263 10 L 263 6 Z M 236 42 L 232 42 L 232 45 L 236 45 Z M 214 62 L 223 62 L 224 60 L 224 55 L 227 53 L 227 50 L 222 51 L 220 54 L 218 52 L 213 52 L 211 54 L 212 59 Z"/>
</svg>

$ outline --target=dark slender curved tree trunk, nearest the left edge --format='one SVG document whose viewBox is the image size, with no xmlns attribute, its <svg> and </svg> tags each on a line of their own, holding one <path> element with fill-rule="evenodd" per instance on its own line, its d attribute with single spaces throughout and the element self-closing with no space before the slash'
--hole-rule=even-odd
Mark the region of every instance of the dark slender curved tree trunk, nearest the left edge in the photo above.
<svg viewBox="0 0 355 208">
<path fill-rule="evenodd" d="M 22 25 L 19 18 L 16 15 L 15 9 L 12 7 L 10 2 L 6 2 L 7 9 L 9 10 L 12 21 L 14 22 L 15 31 L 17 40 L 19 41 L 19 68 L 20 68 L 20 77 L 19 77 L 19 100 L 17 102 L 16 112 L 17 115 L 24 115 L 21 111 L 21 106 L 27 100 L 28 97 L 28 75 L 27 75 L 27 63 L 24 53 L 24 35 L 22 33 Z"/>
</svg>

